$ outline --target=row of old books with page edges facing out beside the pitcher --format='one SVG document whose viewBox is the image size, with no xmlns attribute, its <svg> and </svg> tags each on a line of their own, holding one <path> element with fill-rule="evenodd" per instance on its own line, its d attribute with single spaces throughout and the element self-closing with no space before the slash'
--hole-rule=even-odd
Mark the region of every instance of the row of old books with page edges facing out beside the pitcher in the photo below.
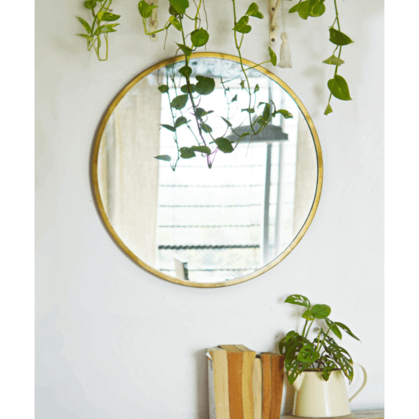
<svg viewBox="0 0 419 419">
<path fill-rule="evenodd" d="M 284 355 L 244 345 L 208 348 L 210 419 L 279 419 Z"/>
</svg>

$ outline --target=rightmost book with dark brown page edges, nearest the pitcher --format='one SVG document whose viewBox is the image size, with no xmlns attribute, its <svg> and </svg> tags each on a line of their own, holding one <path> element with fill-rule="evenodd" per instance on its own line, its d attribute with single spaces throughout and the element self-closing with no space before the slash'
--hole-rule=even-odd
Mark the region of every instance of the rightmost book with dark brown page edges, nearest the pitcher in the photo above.
<svg viewBox="0 0 419 419">
<path fill-rule="evenodd" d="M 269 419 L 279 419 L 281 416 L 281 404 L 282 404 L 282 392 L 284 389 L 284 355 L 274 352 L 263 352 L 260 354 L 262 358 L 262 368 L 263 360 L 265 359 L 266 369 L 267 365 L 270 363 L 270 378 L 271 378 L 271 407 L 270 407 L 270 417 Z M 269 360 L 269 361 L 268 361 Z M 268 373 L 268 371 L 266 371 Z M 265 373 L 265 370 L 262 369 L 262 374 Z M 263 391 L 265 388 L 263 388 Z M 268 419 L 263 416 L 263 419 Z"/>
</svg>

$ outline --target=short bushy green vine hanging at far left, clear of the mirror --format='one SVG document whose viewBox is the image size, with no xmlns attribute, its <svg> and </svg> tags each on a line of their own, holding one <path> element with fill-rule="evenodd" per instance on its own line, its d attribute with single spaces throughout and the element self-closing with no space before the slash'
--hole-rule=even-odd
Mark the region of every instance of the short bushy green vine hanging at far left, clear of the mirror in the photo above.
<svg viewBox="0 0 419 419">
<path fill-rule="evenodd" d="M 114 15 L 113 13 L 111 13 L 111 4 L 112 0 L 84 1 L 84 7 L 91 10 L 91 15 L 93 17 L 91 25 L 87 23 L 84 19 L 82 19 L 82 17 L 76 16 L 87 32 L 87 34 L 78 34 L 78 36 L 81 36 L 82 38 L 85 38 L 87 40 L 87 50 L 90 51 L 91 48 L 93 48 L 96 52 L 96 56 L 98 57 L 99 61 L 106 61 L 108 59 L 108 35 L 111 32 L 116 32 L 117 30 L 115 29 L 115 27 L 119 25 L 119 23 L 106 22 L 115 22 L 119 19 L 119 17 L 121 17 L 119 15 Z M 101 58 L 100 55 L 100 49 L 103 45 L 101 36 L 103 36 L 103 39 L 105 41 L 105 58 Z"/>
</svg>

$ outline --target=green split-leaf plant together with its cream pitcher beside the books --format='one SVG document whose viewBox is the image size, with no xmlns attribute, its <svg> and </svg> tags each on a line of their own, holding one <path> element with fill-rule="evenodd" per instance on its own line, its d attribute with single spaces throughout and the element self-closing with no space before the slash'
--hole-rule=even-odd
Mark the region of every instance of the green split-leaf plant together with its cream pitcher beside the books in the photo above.
<svg viewBox="0 0 419 419">
<path fill-rule="evenodd" d="M 355 394 L 348 399 L 344 376 L 349 383 L 353 380 L 353 360 L 346 349 L 339 346 L 329 333 L 341 339 L 342 332 L 357 339 L 343 323 L 330 320 L 332 309 L 325 304 L 311 306 L 307 297 L 293 294 L 285 302 L 305 307 L 302 318 L 304 328 L 300 335 L 293 330 L 279 341 L 279 352 L 285 355 L 285 369 L 288 381 L 295 388 L 293 415 L 309 418 L 346 416 L 351 414 L 349 402 L 358 395 L 367 383 L 367 372 L 361 365 L 364 380 Z M 309 332 L 314 321 L 320 321 L 327 328 L 316 331 L 312 341 Z"/>
</svg>

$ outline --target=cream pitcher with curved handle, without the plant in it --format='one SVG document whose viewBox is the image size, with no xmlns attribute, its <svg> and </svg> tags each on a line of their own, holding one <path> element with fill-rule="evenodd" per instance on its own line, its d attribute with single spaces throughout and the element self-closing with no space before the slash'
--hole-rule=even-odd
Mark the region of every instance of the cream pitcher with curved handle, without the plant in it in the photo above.
<svg viewBox="0 0 419 419">
<path fill-rule="evenodd" d="M 328 381 L 325 381 L 320 371 L 304 371 L 293 383 L 295 388 L 293 415 L 307 418 L 330 418 L 351 414 L 349 402 L 365 387 L 367 372 L 358 365 L 364 374 L 360 388 L 348 399 L 344 373 L 333 370 Z M 351 389 L 352 385 L 349 385 Z"/>
</svg>

